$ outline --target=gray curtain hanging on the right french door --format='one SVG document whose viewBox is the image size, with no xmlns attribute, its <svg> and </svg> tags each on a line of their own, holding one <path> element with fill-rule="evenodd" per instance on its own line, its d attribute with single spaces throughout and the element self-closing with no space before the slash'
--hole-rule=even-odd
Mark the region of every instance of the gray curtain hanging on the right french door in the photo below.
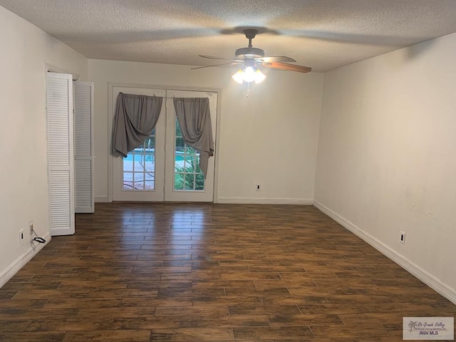
<svg viewBox="0 0 456 342">
<path fill-rule="evenodd" d="M 209 98 L 174 98 L 174 107 L 182 138 L 199 150 L 199 168 L 206 177 L 209 157 L 214 155 Z"/>
</svg>

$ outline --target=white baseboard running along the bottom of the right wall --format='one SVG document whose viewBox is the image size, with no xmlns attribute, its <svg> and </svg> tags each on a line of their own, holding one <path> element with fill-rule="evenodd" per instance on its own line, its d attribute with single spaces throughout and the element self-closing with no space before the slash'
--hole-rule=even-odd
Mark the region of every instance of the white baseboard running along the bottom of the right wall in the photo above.
<svg viewBox="0 0 456 342">
<path fill-rule="evenodd" d="M 365 242 L 370 244 L 372 247 L 377 249 L 378 252 L 384 254 L 385 257 L 388 257 L 389 259 L 394 261 L 396 264 L 401 266 L 403 269 L 410 272 L 410 274 L 413 274 L 413 276 L 416 276 L 418 279 L 420 279 L 420 281 L 423 281 L 423 283 L 425 283 L 431 289 L 434 289 L 439 294 L 444 296 L 446 299 L 451 301 L 453 304 L 456 304 L 456 290 L 455 289 L 452 289 L 447 284 L 442 283 L 442 281 L 440 281 L 440 279 L 437 279 L 435 276 L 428 273 L 427 271 L 422 269 L 417 264 L 406 259 L 405 257 L 403 257 L 403 255 L 399 254 L 394 249 L 388 247 L 386 244 L 384 244 L 383 242 L 380 242 L 378 239 L 375 239 L 375 237 L 373 237 L 371 234 L 368 234 L 367 232 L 363 231 L 363 229 L 357 227 L 352 222 L 341 217 L 336 212 L 333 212 L 331 209 L 329 209 L 325 205 L 321 204 L 320 202 L 314 200 L 314 206 L 317 209 L 321 210 L 321 212 L 323 212 L 324 214 L 328 215 L 328 217 L 331 217 L 331 219 L 338 222 L 338 224 L 341 224 L 343 227 L 348 229 L 350 232 L 357 235 L 358 237 L 363 239 Z"/>
</svg>

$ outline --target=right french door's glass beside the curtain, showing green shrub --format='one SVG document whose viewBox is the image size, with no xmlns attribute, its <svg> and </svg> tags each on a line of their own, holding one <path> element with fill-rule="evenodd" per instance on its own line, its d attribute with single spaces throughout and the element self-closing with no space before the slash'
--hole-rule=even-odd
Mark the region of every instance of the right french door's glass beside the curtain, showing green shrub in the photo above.
<svg viewBox="0 0 456 342">
<path fill-rule="evenodd" d="M 188 146 L 182 138 L 179 120 L 175 120 L 174 190 L 204 191 L 204 175 L 199 169 L 199 151 Z"/>
</svg>

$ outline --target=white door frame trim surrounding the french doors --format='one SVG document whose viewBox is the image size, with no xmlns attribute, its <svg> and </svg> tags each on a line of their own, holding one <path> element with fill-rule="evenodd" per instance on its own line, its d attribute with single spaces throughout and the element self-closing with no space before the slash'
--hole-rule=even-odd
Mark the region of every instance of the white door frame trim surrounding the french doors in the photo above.
<svg viewBox="0 0 456 342">
<path fill-rule="evenodd" d="M 215 121 L 215 139 L 214 139 L 214 199 L 212 202 L 218 202 L 218 183 L 219 183 L 219 137 L 220 137 L 220 115 L 222 103 L 222 90 L 220 88 L 201 88 L 201 87 L 186 87 L 186 86 L 163 86 L 141 83 L 123 83 L 123 82 L 108 82 L 108 202 L 113 202 L 113 165 L 114 157 L 112 155 L 111 138 L 113 135 L 113 88 L 146 88 L 146 89 L 163 89 L 163 90 L 190 90 L 199 92 L 217 93 L 217 119 Z"/>
</svg>

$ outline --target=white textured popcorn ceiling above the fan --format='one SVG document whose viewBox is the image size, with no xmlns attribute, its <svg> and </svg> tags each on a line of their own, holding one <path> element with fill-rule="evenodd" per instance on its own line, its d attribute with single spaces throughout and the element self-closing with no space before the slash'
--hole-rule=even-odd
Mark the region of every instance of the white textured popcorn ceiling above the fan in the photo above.
<svg viewBox="0 0 456 342">
<path fill-rule="evenodd" d="M 328 71 L 456 32 L 456 0 L 0 0 L 88 58 L 206 66 L 253 46 Z M 214 63 L 215 62 L 215 63 Z"/>
</svg>

